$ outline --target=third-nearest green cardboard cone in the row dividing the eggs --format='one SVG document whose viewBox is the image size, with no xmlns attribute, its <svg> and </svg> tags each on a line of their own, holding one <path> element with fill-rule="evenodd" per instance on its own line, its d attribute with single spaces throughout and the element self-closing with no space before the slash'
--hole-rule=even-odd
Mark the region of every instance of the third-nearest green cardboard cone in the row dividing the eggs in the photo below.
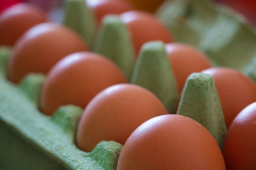
<svg viewBox="0 0 256 170">
<path fill-rule="evenodd" d="M 94 51 L 112 60 L 120 67 L 127 80 L 131 80 L 136 57 L 130 32 L 118 16 L 104 17 L 95 40 Z"/>
</svg>

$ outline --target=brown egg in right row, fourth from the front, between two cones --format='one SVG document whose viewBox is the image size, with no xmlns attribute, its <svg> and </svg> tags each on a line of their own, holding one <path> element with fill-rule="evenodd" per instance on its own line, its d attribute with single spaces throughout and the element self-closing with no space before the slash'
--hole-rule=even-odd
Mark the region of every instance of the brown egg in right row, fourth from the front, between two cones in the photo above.
<svg viewBox="0 0 256 170">
<path fill-rule="evenodd" d="M 127 11 L 122 13 L 120 18 L 130 31 L 132 44 L 137 54 L 141 46 L 148 41 L 159 40 L 164 43 L 171 43 L 173 41 L 168 29 L 150 13 Z"/>
</svg>

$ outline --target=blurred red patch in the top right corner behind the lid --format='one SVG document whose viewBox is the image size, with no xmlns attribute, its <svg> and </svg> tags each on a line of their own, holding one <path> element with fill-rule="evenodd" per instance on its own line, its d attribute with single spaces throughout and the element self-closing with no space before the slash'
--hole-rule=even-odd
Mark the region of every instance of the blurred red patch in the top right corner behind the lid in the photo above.
<svg viewBox="0 0 256 170">
<path fill-rule="evenodd" d="M 241 12 L 252 24 L 256 25 L 256 0 L 217 0 Z"/>
</svg>

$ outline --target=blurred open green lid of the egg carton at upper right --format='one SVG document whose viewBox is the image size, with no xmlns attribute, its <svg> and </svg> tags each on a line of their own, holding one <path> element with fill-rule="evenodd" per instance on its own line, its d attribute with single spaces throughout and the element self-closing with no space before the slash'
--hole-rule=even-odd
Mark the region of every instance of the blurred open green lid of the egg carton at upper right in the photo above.
<svg viewBox="0 0 256 170">
<path fill-rule="evenodd" d="M 176 41 L 199 48 L 215 66 L 237 69 L 256 82 L 256 31 L 241 14 L 209 0 L 167 0 L 156 15 Z"/>
</svg>

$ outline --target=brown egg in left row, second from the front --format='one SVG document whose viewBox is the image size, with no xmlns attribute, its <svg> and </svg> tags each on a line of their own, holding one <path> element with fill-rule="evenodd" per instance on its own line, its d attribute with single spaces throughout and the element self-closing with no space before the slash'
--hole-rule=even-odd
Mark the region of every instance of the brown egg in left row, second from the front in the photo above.
<svg viewBox="0 0 256 170">
<path fill-rule="evenodd" d="M 86 106 L 77 129 L 77 146 L 86 152 L 100 141 L 124 145 L 143 122 L 167 114 L 152 92 L 132 84 L 119 84 L 103 90 Z"/>
</svg>

